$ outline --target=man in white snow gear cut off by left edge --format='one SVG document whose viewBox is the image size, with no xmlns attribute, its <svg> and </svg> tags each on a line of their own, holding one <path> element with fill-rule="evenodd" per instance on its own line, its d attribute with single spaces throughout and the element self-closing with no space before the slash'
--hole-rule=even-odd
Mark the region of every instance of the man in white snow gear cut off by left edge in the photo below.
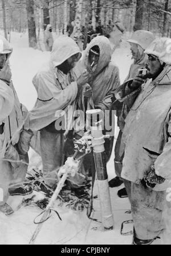
<svg viewBox="0 0 171 256">
<path fill-rule="evenodd" d="M 32 193 L 30 186 L 23 186 L 32 132 L 24 127 L 23 112 L 26 111 L 11 82 L 9 58 L 12 52 L 13 48 L 0 36 L 0 211 L 6 215 L 13 213 L 7 204 L 9 194 L 25 196 Z"/>
</svg>

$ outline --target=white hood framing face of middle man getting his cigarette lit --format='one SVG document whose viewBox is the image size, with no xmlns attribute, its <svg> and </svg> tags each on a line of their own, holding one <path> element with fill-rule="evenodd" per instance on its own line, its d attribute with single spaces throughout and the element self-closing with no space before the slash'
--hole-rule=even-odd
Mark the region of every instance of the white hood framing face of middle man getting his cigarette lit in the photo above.
<svg viewBox="0 0 171 256">
<path fill-rule="evenodd" d="M 109 42 L 109 39 L 107 37 L 100 35 L 93 38 L 88 44 L 83 56 L 83 63 L 86 67 L 88 63 L 89 50 L 93 46 L 99 46 L 100 48 L 99 62 L 97 63 L 96 70 L 93 72 L 93 75 L 96 75 L 111 61 L 112 48 L 111 43 Z"/>
</svg>

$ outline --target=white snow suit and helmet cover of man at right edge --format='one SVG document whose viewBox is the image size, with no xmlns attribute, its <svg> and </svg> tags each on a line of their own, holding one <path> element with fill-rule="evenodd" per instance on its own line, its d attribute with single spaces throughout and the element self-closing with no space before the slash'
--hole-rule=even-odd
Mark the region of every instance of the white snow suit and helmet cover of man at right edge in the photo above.
<svg viewBox="0 0 171 256">
<path fill-rule="evenodd" d="M 166 65 L 156 79 L 147 80 L 141 86 L 139 95 L 125 101 L 132 105 L 121 140 L 120 155 L 124 153 L 121 177 L 131 202 L 132 217 L 136 237 L 155 238 L 162 229 L 162 210 L 164 209 L 165 189 L 161 185 L 154 189 L 144 188 L 141 180 L 154 164 L 158 176 L 171 178 L 170 172 L 170 113 L 171 113 L 171 61 L 166 50 L 171 46 L 168 38 L 156 39 L 146 49 L 146 54 L 157 55 Z M 156 52 L 152 48 L 157 48 Z M 127 91 L 127 92 L 126 92 Z M 123 97 L 129 94 L 128 86 Z M 138 94 L 138 92 L 137 92 Z M 161 191 L 160 191 L 161 190 Z"/>
</svg>

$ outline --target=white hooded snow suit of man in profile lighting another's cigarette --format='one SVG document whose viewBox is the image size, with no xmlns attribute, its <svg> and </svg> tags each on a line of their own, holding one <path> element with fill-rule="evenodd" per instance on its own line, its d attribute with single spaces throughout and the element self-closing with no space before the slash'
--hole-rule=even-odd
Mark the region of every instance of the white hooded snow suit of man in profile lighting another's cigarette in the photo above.
<svg viewBox="0 0 171 256">
<path fill-rule="evenodd" d="M 74 104 L 78 94 L 74 72 L 71 70 L 65 75 L 57 66 L 78 53 L 80 58 L 82 54 L 73 39 L 60 36 L 54 42 L 50 62 L 45 64 L 32 79 L 38 99 L 30 111 L 30 129 L 40 135 L 43 176 L 49 186 L 56 184 L 58 180 L 56 168 L 63 164 L 64 136 L 62 131 L 51 132 L 46 127 L 59 119 L 59 116 L 55 116 L 56 111 L 58 115 L 60 112 L 67 112 L 68 105 Z"/>
</svg>

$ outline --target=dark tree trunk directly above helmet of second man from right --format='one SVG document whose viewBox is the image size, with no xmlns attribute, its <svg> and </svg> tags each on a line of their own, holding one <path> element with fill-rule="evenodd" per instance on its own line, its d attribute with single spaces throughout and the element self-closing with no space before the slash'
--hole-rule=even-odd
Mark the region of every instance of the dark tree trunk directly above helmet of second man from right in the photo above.
<svg viewBox="0 0 171 256">
<path fill-rule="evenodd" d="M 142 0 L 137 0 L 135 25 L 133 27 L 134 31 L 143 29 L 143 11 L 144 11 L 143 1 Z"/>
</svg>

